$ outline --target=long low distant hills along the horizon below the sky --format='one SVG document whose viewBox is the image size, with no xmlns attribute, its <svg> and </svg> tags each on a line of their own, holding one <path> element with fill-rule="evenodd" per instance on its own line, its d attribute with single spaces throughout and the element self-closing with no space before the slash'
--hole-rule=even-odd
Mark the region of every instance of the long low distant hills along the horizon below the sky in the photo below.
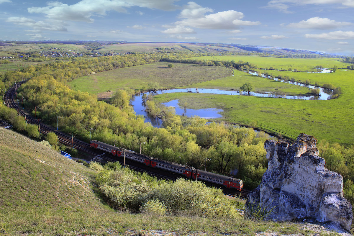
<svg viewBox="0 0 354 236">
<path fill-rule="evenodd" d="M 204 53 L 251 53 L 258 52 L 275 55 L 320 55 L 338 57 L 317 51 L 280 48 L 271 46 L 196 43 L 196 42 L 127 42 L 127 41 L 3 41 L 0 51 L 36 51 L 48 47 L 66 48 L 81 52 L 125 53 L 125 52 L 204 52 Z M 6 45 L 7 44 L 7 45 Z M 32 46 L 31 46 L 32 45 Z M 48 45 L 48 46 L 46 46 Z"/>
</svg>

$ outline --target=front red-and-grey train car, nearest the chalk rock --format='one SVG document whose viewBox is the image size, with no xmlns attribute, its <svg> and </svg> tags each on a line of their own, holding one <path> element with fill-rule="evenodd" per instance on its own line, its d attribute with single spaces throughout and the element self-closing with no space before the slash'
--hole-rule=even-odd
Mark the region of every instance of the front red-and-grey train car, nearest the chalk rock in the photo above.
<svg viewBox="0 0 354 236">
<path fill-rule="evenodd" d="M 194 169 L 192 173 L 192 179 L 196 179 L 196 173 L 198 172 L 198 180 L 204 180 L 214 184 L 223 185 L 226 188 L 238 189 L 241 191 L 243 188 L 243 182 L 241 179 L 227 177 L 221 174 L 215 174 L 207 171 Z"/>
</svg>

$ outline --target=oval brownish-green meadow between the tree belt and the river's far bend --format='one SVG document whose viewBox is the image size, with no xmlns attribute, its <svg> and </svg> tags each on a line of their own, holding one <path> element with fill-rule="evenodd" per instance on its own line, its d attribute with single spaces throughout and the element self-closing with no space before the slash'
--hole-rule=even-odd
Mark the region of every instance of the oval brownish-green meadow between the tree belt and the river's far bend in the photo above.
<svg viewBox="0 0 354 236">
<path fill-rule="evenodd" d="M 172 63 L 174 66 L 168 68 L 167 64 L 170 63 L 157 62 L 104 71 L 75 79 L 70 82 L 70 86 L 91 93 L 114 91 L 124 87 L 141 89 L 150 82 L 158 82 L 166 88 L 175 88 L 232 75 L 232 70 L 225 67 Z"/>
</svg>

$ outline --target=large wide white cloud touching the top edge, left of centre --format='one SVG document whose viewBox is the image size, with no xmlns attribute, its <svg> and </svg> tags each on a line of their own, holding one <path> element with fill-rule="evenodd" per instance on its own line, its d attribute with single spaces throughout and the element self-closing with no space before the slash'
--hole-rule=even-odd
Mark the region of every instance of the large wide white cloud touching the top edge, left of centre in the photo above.
<svg viewBox="0 0 354 236">
<path fill-rule="evenodd" d="M 68 5 L 62 2 L 47 2 L 45 7 L 29 7 L 29 13 L 43 13 L 51 19 L 93 22 L 95 15 L 105 16 L 108 11 L 127 12 L 127 7 L 139 6 L 165 11 L 175 10 L 176 0 L 81 0 Z"/>
</svg>

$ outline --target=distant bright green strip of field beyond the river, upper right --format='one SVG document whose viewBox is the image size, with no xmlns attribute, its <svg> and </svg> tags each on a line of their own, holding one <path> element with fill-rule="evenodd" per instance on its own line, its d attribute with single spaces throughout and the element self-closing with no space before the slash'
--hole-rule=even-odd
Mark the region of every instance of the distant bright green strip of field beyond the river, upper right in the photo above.
<svg viewBox="0 0 354 236">
<path fill-rule="evenodd" d="M 193 58 L 193 57 L 192 57 Z M 288 70 L 289 68 L 298 70 L 315 71 L 317 65 L 322 65 L 324 68 L 333 68 L 337 65 L 338 68 L 347 68 L 348 63 L 337 62 L 337 58 L 278 58 L 278 57 L 259 57 L 259 56 L 213 56 L 213 57 L 195 57 L 210 61 L 244 61 L 258 65 L 258 68 L 269 69 L 273 67 L 278 70 Z M 277 72 L 277 71 L 276 71 Z"/>
</svg>

